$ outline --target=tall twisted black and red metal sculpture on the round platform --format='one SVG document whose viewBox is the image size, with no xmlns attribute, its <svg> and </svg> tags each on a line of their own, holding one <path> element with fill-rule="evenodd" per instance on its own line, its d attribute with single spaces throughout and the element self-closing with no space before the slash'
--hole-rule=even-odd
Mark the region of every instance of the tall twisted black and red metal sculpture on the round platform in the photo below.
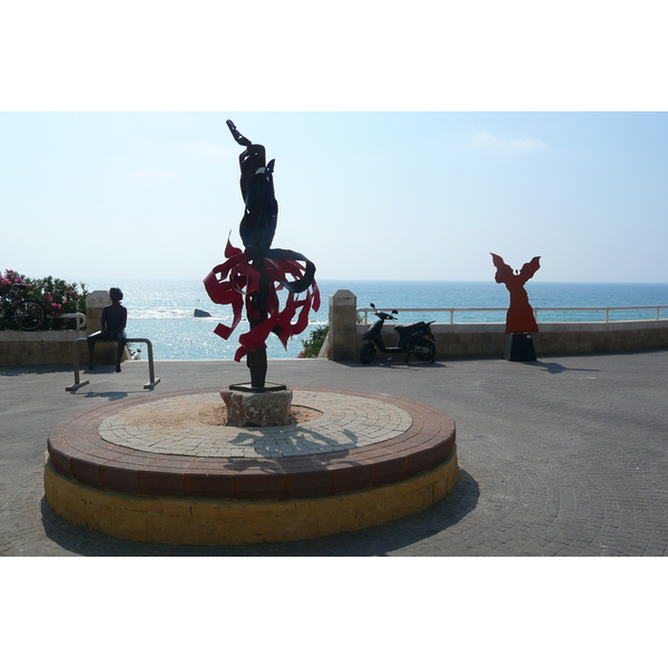
<svg viewBox="0 0 668 668">
<path fill-rule="evenodd" d="M 229 239 L 225 249 L 227 261 L 216 266 L 204 279 L 206 291 L 216 304 L 229 304 L 234 312 L 232 327 L 218 324 L 215 332 L 228 338 L 240 321 L 245 298 L 250 331 L 239 337 L 240 346 L 235 360 L 246 355 L 253 389 L 264 389 L 267 374 L 266 338 L 271 333 L 283 345 L 301 334 L 308 325 L 308 312 L 320 308 L 320 292 L 315 283 L 315 265 L 294 250 L 272 248 L 278 217 L 278 203 L 274 195 L 274 160 L 266 163 L 264 146 L 253 144 L 235 127 L 227 127 L 236 143 L 245 147 L 239 156 L 240 187 L 244 216 L 239 235 L 244 250 L 235 248 Z M 304 263 L 302 266 L 299 263 Z M 287 276 L 292 277 L 288 281 Z M 276 287 L 278 284 L 278 287 Z M 277 289 L 288 293 L 281 310 Z M 301 299 L 299 293 L 305 293 Z M 296 323 L 293 317 L 297 316 Z"/>
</svg>

